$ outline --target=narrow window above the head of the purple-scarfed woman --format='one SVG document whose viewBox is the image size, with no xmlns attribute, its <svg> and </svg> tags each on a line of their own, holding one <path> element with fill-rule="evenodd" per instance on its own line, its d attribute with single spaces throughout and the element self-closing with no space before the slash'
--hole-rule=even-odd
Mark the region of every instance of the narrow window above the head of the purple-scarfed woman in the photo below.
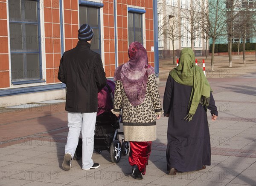
<svg viewBox="0 0 256 186">
<path fill-rule="evenodd" d="M 128 12 L 129 44 L 134 41 L 143 43 L 142 14 Z"/>
</svg>

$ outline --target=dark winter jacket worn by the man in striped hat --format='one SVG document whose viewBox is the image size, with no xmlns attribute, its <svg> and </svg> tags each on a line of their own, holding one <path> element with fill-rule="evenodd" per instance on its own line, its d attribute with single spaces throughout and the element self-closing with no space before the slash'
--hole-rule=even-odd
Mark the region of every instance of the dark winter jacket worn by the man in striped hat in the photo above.
<svg viewBox="0 0 256 186">
<path fill-rule="evenodd" d="M 97 112 L 97 93 L 106 85 L 99 54 L 90 50 L 90 43 L 79 41 L 61 57 L 58 79 L 67 86 L 66 111 Z"/>
</svg>

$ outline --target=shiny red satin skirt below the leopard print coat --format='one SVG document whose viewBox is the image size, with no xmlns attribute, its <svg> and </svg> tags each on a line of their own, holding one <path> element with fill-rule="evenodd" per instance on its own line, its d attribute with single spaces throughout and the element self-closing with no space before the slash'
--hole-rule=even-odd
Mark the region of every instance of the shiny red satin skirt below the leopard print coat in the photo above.
<svg viewBox="0 0 256 186">
<path fill-rule="evenodd" d="M 148 165 L 151 153 L 151 144 L 151 141 L 130 141 L 129 163 L 131 166 L 137 165 L 143 175 L 146 173 L 146 166 Z"/>
</svg>

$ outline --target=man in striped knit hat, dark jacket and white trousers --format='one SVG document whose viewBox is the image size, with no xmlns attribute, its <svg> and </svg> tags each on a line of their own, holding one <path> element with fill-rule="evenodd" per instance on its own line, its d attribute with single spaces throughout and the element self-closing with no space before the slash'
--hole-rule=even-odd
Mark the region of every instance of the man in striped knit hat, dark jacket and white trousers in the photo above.
<svg viewBox="0 0 256 186">
<path fill-rule="evenodd" d="M 69 171 L 71 160 L 82 133 L 82 169 L 96 169 L 94 163 L 93 137 L 98 110 L 97 93 L 105 86 L 106 77 L 99 54 L 90 50 L 93 29 L 84 24 L 79 29 L 77 46 L 61 57 L 58 79 L 67 86 L 66 111 L 69 126 L 65 156 L 62 163 Z"/>
</svg>

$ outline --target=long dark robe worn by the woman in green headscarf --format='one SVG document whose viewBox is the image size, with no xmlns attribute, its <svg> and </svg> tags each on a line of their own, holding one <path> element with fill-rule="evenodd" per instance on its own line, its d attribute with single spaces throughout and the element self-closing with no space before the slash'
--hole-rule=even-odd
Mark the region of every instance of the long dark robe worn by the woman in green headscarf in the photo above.
<svg viewBox="0 0 256 186">
<path fill-rule="evenodd" d="M 163 98 L 164 115 L 169 114 L 167 132 L 167 170 L 180 172 L 201 169 L 211 165 L 210 135 L 206 110 L 218 116 L 217 107 L 210 94 L 207 109 L 198 104 L 191 121 L 184 120 L 189 112 L 188 104 L 192 86 L 177 83 L 170 75 Z"/>
</svg>

